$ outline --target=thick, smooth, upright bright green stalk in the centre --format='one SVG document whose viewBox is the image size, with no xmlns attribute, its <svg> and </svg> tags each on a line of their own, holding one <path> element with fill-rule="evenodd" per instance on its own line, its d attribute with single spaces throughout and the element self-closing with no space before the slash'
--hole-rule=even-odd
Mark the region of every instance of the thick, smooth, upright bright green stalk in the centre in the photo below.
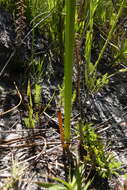
<svg viewBox="0 0 127 190">
<path fill-rule="evenodd" d="M 65 141 L 70 143 L 70 117 L 72 99 L 72 67 L 74 45 L 74 22 L 76 0 L 66 0 L 65 58 L 64 58 L 64 133 Z"/>
</svg>

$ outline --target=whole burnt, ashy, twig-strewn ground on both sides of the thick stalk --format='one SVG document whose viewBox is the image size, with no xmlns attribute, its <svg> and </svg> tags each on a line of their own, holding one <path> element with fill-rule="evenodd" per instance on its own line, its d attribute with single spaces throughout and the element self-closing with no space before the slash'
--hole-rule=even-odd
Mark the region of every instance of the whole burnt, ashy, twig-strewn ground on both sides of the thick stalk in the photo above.
<svg viewBox="0 0 127 190">
<path fill-rule="evenodd" d="M 50 69 L 48 70 L 48 68 Z M 67 164 L 68 161 L 63 154 L 57 121 L 58 78 L 63 75 L 62 70 L 62 65 L 58 67 L 58 72 L 56 65 L 52 65 L 52 68 L 47 67 L 47 77 L 45 76 L 40 83 L 42 85 L 41 110 L 44 110 L 52 97 L 54 98 L 52 98 L 48 109 L 40 114 L 40 119 L 34 129 L 26 128 L 24 124 L 24 117 L 28 115 L 26 74 L 18 73 L 16 75 L 11 72 L 1 77 L 0 189 L 9 189 L 8 184 L 13 181 L 13 167 L 18 171 L 14 176 L 17 179 L 14 185 L 16 189 L 44 189 L 39 188 L 36 182 L 51 182 L 52 177 L 66 179 L 64 164 Z M 83 71 L 83 67 L 81 70 Z M 114 176 L 106 182 L 97 178 L 95 187 L 91 187 L 91 189 L 116 189 L 117 184 L 124 183 L 123 175 L 127 172 L 126 80 L 126 74 L 117 75 L 100 92 L 90 95 L 89 98 L 86 96 L 86 89 L 81 81 L 82 117 L 86 121 L 94 123 L 94 128 L 97 134 L 103 138 L 107 150 L 113 153 L 117 161 L 122 163 L 117 177 Z M 13 84 L 14 81 L 21 93 L 22 103 L 11 111 L 10 109 L 18 105 L 21 98 Z M 79 106 L 74 104 L 72 114 L 73 145 L 71 149 L 74 153 L 74 159 L 74 147 L 77 147 L 78 143 L 75 125 L 80 118 L 79 109 Z M 10 110 L 9 113 L 4 114 L 7 110 Z"/>
</svg>

